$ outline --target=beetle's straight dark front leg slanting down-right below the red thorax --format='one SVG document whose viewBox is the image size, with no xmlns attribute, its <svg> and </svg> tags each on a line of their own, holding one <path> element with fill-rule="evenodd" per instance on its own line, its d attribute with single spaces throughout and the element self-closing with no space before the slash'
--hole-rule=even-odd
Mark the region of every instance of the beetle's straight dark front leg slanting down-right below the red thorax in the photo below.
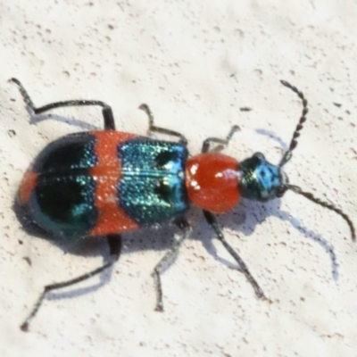
<svg viewBox="0 0 357 357">
<path fill-rule="evenodd" d="M 257 297 L 266 299 L 261 286 L 256 282 L 256 280 L 253 278 L 252 274 L 248 270 L 247 266 L 245 265 L 245 262 L 242 260 L 242 258 L 233 250 L 233 248 L 228 245 L 228 242 L 223 236 L 222 229 L 220 228 L 220 223 L 217 220 L 217 217 L 212 213 L 208 211 L 203 211 L 204 218 L 207 220 L 208 224 L 212 227 L 214 232 L 216 233 L 218 239 L 224 245 L 224 247 L 228 250 L 228 253 L 232 255 L 234 260 L 238 263 L 240 270 L 245 274 L 245 278 L 251 283 L 254 289 L 255 295 Z"/>
</svg>

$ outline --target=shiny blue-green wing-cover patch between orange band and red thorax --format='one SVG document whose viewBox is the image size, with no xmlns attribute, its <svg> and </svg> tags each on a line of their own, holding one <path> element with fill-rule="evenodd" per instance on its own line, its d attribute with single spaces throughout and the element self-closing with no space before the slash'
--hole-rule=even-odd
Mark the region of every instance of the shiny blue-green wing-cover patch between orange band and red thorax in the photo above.
<svg viewBox="0 0 357 357">
<path fill-rule="evenodd" d="M 184 145 L 138 137 L 119 145 L 118 156 L 119 203 L 132 220 L 151 225 L 187 211 Z"/>
</svg>

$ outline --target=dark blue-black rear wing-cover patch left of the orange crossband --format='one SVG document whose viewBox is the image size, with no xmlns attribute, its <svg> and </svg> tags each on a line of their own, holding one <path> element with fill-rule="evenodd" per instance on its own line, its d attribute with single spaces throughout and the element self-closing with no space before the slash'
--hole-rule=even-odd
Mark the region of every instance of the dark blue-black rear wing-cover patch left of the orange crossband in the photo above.
<svg viewBox="0 0 357 357">
<path fill-rule="evenodd" d="M 31 172 L 37 184 L 26 204 L 37 226 L 55 235 L 82 237 L 95 226 L 95 137 L 89 133 L 61 137 L 37 156 Z"/>
</svg>

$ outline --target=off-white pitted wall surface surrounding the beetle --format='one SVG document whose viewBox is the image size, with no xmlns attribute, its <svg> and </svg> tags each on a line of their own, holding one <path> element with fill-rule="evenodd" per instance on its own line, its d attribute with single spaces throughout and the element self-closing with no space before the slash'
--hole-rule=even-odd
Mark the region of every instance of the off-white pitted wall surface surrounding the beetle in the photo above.
<svg viewBox="0 0 357 357">
<path fill-rule="evenodd" d="M 102 120 L 99 110 L 69 108 L 30 124 L 7 83 L 21 79 L 37 105 L 104 100 L 118 129 L 143 135 L 147 120 L 137 106 L 146 102 L 158 125 L 188 138 L 192 154 L 205 137 L 224 137 L 238 124 L 228 154 L 242 160 L 262 151 L 278 162 L 301 112 L 278 80 L 291 81 L 311 111 L 286 165 L 290 181 L 357 224 L 356 16 L 356 3 L 337 0 L 2 1 L 0 355 L 357 355 L 357 245 L 344 220 L 292 193 L 244 202 L 221 218 L 272 303 L 257 300 L 244 276 L 228 268 L 234 262 L 193 210 L 192 239 L 162 278 L 164 313 L 154 311 L 150 273 L 174 230 L 146 229 L 125 236 L 108 284 L 96 288 L 93 278 L 59 292 L 22 333 L 42 286 L 98 266 L 107 251 L 95 241 L 63 253 L 30 237 L 12 198 L 44 145 L 101 128 Z"/>
</svg>

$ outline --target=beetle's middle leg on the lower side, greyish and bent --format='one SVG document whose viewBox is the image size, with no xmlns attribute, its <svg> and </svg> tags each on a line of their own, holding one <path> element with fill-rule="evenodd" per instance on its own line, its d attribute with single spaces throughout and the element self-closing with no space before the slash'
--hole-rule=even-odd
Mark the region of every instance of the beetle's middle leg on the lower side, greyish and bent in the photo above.
<svg viewBox="0 0 357 357">
<path fill-rule="evenodd" d="M 188 237 L 191 232 L 191 227 L 187 220 L 179 220 L 176 222 L 180 229 L 182 229 L 183 233 L 179 236 L 178 239 L 175 240 L 174 245 L 172 245 L 169 252 L 167 252 L 163 257 L 162 260 L 155 266 L 153 271 L 153 278 L 156 290 L 156 311 L 163 311 L 163 304 L 162 304 L 162 281 L 161 281 L 161 274 L 163 270 L 172 262 L 172 260 L 178 255 L 179 247 L 182 245 L 184 240 Z"/>
</svg>

